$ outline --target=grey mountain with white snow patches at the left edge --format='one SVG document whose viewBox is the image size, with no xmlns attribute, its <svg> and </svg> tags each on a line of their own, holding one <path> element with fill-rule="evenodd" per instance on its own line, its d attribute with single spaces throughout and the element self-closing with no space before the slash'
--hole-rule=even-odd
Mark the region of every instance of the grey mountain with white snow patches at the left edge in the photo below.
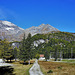
<svg viewBox="0 0 75 75">
<path fill-rule="evenodd" d="M 0 39 L 19 40 L 19 35 L 24 29 L 8 21 L 0 21 Z"/>
</svg>

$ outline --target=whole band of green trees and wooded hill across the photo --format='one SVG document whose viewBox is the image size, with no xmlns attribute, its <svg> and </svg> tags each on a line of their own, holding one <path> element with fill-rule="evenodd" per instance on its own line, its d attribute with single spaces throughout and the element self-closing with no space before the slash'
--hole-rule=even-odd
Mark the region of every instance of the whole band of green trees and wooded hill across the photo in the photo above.
<svg viewBox="0 0 75 75">
<path fill-rule="evenodd" d="M 45 40 L 44 43 L 34 46 L 34 41 L 39 39 Z M 24 62 L 32 58 L 39 58 L 40 54 L 44 54 L 46 60 L 50 57 L 55 58 L 75 58 L 75 36 L 67 32 L 57 32 L 50 34 L 37 34 L 31 37 L 24 37 L 19 42 L 19 48 L 12 47 L 12 43 L 6 40 L 0 40 L 0 58 L 7 61 L 12 59 L 20 59 Z"/>
</svg>

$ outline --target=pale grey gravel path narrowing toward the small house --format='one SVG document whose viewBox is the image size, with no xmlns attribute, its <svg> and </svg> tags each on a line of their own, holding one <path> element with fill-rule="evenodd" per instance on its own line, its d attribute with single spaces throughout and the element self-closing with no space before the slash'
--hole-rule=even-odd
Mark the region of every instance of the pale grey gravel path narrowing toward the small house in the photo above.
<svg viewBox="0 0 75 75">
<path fill-rule="evenodd" d="M 29 73 L 30 75 L 44 75 L 40 70 L 38 60 L 36 60 L 33 66 L 30 68 Z"/>
</svg>

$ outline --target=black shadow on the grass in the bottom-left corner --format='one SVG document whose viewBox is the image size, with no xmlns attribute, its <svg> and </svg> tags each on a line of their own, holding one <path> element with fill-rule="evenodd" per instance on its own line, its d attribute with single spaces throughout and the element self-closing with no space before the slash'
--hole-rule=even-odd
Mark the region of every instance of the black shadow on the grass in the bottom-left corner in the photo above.
<svg viewBox="0 0 75 75">
<path fill-rule="evenodd" d="M 14 68 L 10 66 L 0 67 L 0 75 L 15 75 L 13 74 Z"/>
</svg>

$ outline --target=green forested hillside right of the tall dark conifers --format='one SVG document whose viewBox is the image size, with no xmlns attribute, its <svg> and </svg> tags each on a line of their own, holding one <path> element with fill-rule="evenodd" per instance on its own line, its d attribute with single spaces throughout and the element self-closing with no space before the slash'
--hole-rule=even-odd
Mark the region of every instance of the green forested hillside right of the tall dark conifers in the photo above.
<svg viewBox="0 0 75 75">
<path fill-rule="evenodd" d="M 75 36 L 68 32 L 54 32 L 49 34 L 37 34 L 32 37 L 34 40 L 44 39 L 35 47 L 35 52 L 44 54 L 47 59 L 57 58 L 75 58 Z"/>
</svg>

